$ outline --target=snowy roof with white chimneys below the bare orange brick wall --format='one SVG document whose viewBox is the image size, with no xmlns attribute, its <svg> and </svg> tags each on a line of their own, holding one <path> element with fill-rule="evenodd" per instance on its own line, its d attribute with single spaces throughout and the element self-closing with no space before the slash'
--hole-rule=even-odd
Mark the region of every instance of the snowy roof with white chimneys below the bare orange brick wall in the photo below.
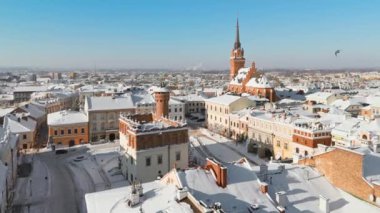
<svg viewBox="0 0 380 213">
<path fill-rule="evenodd" d="M 275 199 L 275 193 L 286 192 L 287 211 L 320 212 L 319 195 L 330 199 L 331 212 L 380 212 L 380 209 L 359 200 L 331 185 L 328 180 L 310 167 L 285 165 L 285 171 L 278 173 L 279 164 L 269 164 L 269 194 Z M 259 171 L 259 167 L 253 170 Z M 267 181 L 270 182 L 270 181 Z"/>
</svg>

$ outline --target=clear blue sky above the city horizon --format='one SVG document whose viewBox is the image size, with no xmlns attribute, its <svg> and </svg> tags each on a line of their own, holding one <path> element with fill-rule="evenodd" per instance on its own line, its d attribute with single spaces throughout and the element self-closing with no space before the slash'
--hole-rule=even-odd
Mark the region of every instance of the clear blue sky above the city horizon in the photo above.
<svg viewBox="0 0 380 213">
<path fill-rule="evenodd" d="M 0 66 L 380 67 L 378 0 L 0 0 Z M 336 49 L 342 49 L 339 57 Z"/>
</svg>

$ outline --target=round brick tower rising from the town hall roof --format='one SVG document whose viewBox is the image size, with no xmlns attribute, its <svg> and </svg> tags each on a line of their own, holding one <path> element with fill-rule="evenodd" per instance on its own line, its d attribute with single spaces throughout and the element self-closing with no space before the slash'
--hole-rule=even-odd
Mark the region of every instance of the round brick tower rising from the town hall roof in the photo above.
<svg viewBox="0 0 380 213">
<path fill-rule="evenodd" d="M 161 85 L 154 91 L 154 99 L 156 100 L 156 119 L 167 117 L 169 114 L 169 90 Z"/>
</svg>

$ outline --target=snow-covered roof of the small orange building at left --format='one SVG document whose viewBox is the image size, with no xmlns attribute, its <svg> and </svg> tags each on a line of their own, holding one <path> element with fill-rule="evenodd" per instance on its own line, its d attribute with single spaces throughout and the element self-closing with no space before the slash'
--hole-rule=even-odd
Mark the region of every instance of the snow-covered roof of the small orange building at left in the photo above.
<svg viewBox="0 0 380 213">
<path fill-rule="evenodd" d="M 59 111 L 48 114 L 47 124 L 48 125 L 67 125 L 67 124 L 77 124 L 88 122 L 88 117 L 84 112 L 78 111 Z"/>
</svg>

